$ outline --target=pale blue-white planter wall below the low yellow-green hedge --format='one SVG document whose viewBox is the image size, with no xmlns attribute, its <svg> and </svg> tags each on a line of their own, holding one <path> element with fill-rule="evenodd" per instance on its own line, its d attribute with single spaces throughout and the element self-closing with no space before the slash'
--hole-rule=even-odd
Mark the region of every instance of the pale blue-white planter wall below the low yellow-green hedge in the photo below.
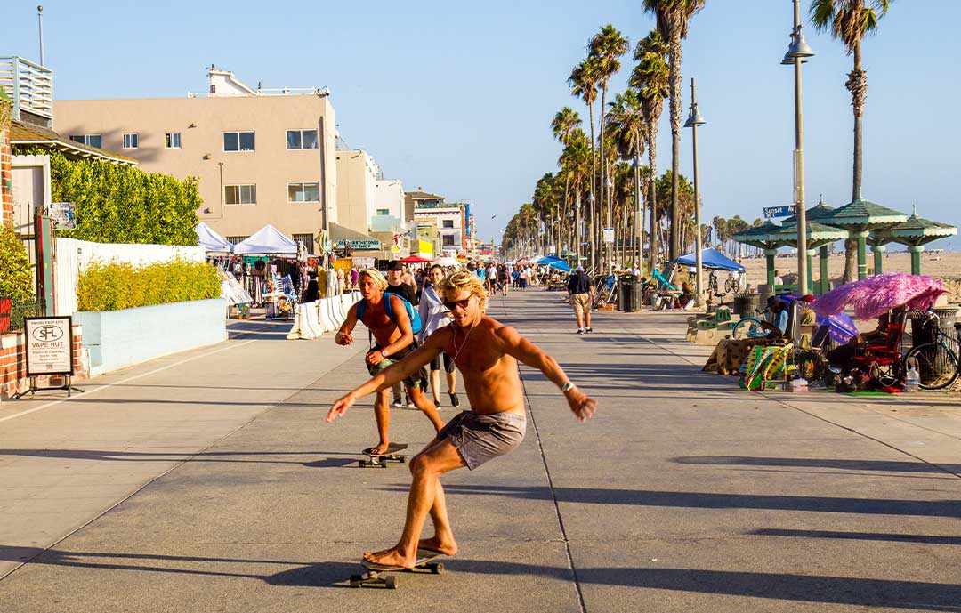
<svg viewBox="0 0 961 613">
<path fill-rule="evenodd" d="M 227 340 L 227 302 L 220 298 L 123 310 L 78 311 L 90 376 L 155 357 Z"/>
</svg>

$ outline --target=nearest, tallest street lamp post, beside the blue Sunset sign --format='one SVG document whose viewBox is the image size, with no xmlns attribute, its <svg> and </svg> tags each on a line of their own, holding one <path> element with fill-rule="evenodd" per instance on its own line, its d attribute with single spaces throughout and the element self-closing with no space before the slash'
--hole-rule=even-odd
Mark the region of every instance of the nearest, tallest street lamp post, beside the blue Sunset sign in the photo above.
<svg viewBox="0 0 961 613">
<path fill-rule="evenodd" d="M 794 64 L 794 202 L 798 220 L 798 291 L 810 291 L 807 270 L 807 213 L 804 210 L 804 138 L 801 123 L 801 63 L 814 55 L 801 34 L 801 0 L 794 0 L 794 30 L 782 64 Z"/>
</svg>

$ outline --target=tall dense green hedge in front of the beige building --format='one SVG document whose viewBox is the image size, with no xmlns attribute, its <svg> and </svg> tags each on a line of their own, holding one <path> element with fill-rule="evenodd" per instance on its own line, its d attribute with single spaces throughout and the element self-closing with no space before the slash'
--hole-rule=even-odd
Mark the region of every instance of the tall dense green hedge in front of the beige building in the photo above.
<svg viewBox="0 0 961 613">
<path fill-rule="evenodd" d="M 14 153 L 50 157 L 51 197 L 72 202 L 77 227 L 58 236 L 98 243 L 196 245 L 197 209 L 203 204 L 195 177 L 179 181 L 136 166 L 97 159 L 66 159 L 42 147 Z"/>
</svg>

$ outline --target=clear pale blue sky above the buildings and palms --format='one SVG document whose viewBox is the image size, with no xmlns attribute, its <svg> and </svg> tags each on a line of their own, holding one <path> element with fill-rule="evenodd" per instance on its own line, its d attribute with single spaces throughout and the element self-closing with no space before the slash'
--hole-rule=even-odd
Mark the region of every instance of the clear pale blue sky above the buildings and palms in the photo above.
<svg viewBox="0 0 961 613">
<path fill-rule="evenodd" d="M 204 91 L 215 63 L 263 86 L 329 86 L 341 135 L 387 177 L 474 203 L 480 237 L 503 230 L 560 152 L 564 105 L 586 110 L 566 79 L 591 35 L 612 23 L 631 46 L 653 28 L 640 0 L 451 3 L 246 0 L 44 2 L 46 63 L 59 98 L 181 96 Z M 806 14 L 808 0 L 802 0 Z M 780 65 L 791 0 L 707 0 L 684 45 L 708 124 L 699 131 L 703 215 L 791 200 L 792 69 Z M 38 60 L 36 1 L 5 0 L 0 55 Z M 958 0 L 896 0 L 863 45 L 869 68 L 864 196 L 961 224 Z M 805 21 L 806 24 L 806 21 Z M 841 44 L 805 28 L 807 199 L 850 200 L 852 116 Z M 612 82 L 625 86 L 631 61 Z M 665 109 L 658 169 L 670 167 Z M 690 131 L 681 172 L 691 176 Z M 492 215 L 497 215 L 492 219 Z M 933 246 L 961 248 L 953 238 Z"/>
</svg>

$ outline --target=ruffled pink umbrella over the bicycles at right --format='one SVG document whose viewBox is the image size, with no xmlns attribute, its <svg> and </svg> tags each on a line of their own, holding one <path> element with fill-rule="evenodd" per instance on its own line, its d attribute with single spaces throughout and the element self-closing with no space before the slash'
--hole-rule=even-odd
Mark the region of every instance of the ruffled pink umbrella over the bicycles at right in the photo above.
<svg viewBox="0 0 961 613">
<path fill-rule="evenodd" d="M 836 315 L 845 307 L 854 307 L 854 319 L 875 319 L 892 308 L 907 306 L 924 310 L 934 305 L 938 296 L 947 294 L 945 286 L 924 275 L 885 273 L 832 289 L 811 304 L 819 315 Z"/>
</svg>

